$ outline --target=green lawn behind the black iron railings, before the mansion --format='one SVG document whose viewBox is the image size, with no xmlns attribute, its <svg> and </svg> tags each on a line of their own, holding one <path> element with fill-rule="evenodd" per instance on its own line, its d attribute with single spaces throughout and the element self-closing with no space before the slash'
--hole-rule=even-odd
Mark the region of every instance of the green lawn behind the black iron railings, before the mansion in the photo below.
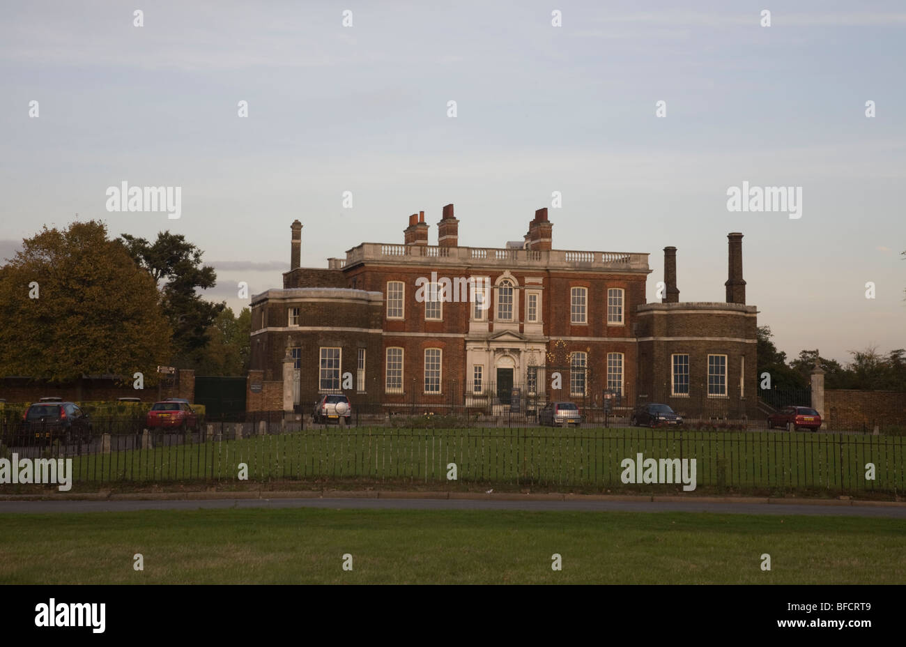
<svg viewBox="0 0 906 647">
<path fill-rule="evenodd" d="M 113 449 L 116 449 L 114 438 Z M 906 438 L 767 431 L 603 429 L 306 430 L 73 460 L 76 482 L 248 478 L 410 479 L 622 488 L 621 461 L 697 460 L 699 487 L 901 492 Z M 866 480 L 865 464 L 876 478 Z"/>
</svg>

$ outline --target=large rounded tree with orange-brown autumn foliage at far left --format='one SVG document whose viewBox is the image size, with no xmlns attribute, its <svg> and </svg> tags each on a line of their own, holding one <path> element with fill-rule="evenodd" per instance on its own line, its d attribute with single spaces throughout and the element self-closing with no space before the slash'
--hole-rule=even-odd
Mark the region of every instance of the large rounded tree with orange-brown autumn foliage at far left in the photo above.
<svg viewBox="0 0 906 647">
<path fill-rule="evenodd" d="M 150 385 L 170 336 L 154 281 L 101 222 L 43 227 L 0 268 L 0 374 Z"/>
</svg>

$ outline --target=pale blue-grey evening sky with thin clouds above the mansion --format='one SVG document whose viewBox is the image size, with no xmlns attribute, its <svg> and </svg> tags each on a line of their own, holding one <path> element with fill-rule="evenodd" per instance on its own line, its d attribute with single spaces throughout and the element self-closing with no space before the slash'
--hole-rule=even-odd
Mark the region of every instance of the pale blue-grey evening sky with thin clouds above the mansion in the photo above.
<svg viewBox="0 0 906 647">
<path fill-rule="evenodd" d="M 0 261 L 44 225 L 169 229 L 237 309 L 282 287 L 296 218 L 326 267 L 421 210 L 430 244 L 452 202 L 497 247 L 547 207 L 555 248 L 650 253 L 649 302 L 664 246 L 681 301 L 723 301 L 742 232 L 790 357 L 906 347 L 902 2 L 135 5 L 3 0 Z M 180 217 L 108 211 L 123 181 L 180 187 Z M 744 181 L 801 188 L 800 217 L 729 211 Z"/>
</svg>

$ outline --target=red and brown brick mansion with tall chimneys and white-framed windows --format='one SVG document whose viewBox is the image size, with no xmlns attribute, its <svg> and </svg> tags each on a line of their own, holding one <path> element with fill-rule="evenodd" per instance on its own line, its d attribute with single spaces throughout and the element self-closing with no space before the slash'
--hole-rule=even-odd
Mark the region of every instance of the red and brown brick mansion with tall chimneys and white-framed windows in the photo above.
<svg viewBox="0 0 906 647">
<path fill-rule="evenodd" d="M 390 412 L 529 400 L 754 411 L 757 308 L 746 304 L 742 234 L 728 234 L 725 303 L 679 301 L 672 246 L 663 298 L 646 303 L 647 253 L 555 249 L 546 208 L 503 247 L 461 246 L 458 227 L 447 205 L 431 246 L 420 212 L 401 244 L 361 243 L 309 268 L 294 221 L 283 287 L 252 297 L 249 409 L 274 407 L 267 394 L 292 375 L 302 410 L 342 391 Z M 451 285 L 484 289 L 451 298 Z"/>
</svg>

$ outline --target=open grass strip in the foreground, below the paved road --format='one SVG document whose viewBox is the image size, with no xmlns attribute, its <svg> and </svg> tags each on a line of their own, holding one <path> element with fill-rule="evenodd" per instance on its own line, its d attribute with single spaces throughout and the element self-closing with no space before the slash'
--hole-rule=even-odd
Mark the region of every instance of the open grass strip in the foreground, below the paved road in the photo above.
<svg viewBox="0 0 906 647">
<path fill-rule="evenodd" d="M 906 583 L 906 521 L 882 518 L 295 508 L 3 521 L 3 583 Z"/>
</svg>

